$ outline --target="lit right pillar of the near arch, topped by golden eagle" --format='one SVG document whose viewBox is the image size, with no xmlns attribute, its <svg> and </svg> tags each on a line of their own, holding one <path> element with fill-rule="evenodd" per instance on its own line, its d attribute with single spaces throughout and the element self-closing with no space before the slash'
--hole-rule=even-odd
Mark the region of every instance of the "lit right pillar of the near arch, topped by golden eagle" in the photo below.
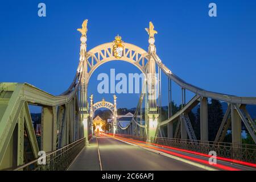
<svg viewBox="0 0 256 182">
<path fill-rule="evenodd" d="M 155 38 L 154 35 L 157 32 L 154 30 L 152 22 L 149 23 L 149 28 L 145 28 L 148 37 L 148 72 L 147 72 L 147 93 L 148 93 L 148 111 L 147 111 L 147 142 L 151 142 L 151 137 L 156 136 L 159 123 L 158 106 L 156 104 L 156 71 L 155 71 L 155 60 L 152 54 L 156 52 Z M 158 83 L 159 84 L 159 83 Z"/>
</svg>

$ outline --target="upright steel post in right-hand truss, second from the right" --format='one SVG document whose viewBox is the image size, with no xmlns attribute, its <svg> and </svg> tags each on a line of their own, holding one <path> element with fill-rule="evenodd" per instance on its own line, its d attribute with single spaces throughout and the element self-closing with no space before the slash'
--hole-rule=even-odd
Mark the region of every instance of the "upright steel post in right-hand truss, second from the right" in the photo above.
<svg viewBox="0 0 256 182">
<path fill-rule="evenodd" d="M 208 102 L 206 97 L 200 98 L 200 137 L 208 141 Z"/>
</svg>

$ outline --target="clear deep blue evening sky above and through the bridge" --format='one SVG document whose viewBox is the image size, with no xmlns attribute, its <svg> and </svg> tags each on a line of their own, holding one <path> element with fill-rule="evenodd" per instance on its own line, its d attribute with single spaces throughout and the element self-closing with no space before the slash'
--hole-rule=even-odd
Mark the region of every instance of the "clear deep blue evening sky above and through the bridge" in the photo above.
<svg viewBox="0 0 256 182">
<path fill-rule="evenodd" d="M 47 16 L 38 16 L 44 2 Z M 210 2 L 217 17 L 208 16 Z M 256 96 L 256 1 L 2 1 L 0 3 L 0 81 L 28 82 L 52 94 L 68 88 L 79 61 L 80 33 L 88 23 L 88 50 L 112 42 L 117 34 L 147 50 L 148 22 L 158 35 L 159 57 L 183 80 L 206 90 Z M 95 101 L 97 75 L 139 72 L 125 62 L 99 67 L 89 83 Z M 167 94 L 163 80 L 163 96 Z M 174 100 L 181 92 L 174 88 Z M 135 107 L 138 94 L 120 94 L 119 107 Z M 188 100 L 188 99 L 187 99 Z M 166 99 L 163 105 L 167 104 Z"/>
</svg>

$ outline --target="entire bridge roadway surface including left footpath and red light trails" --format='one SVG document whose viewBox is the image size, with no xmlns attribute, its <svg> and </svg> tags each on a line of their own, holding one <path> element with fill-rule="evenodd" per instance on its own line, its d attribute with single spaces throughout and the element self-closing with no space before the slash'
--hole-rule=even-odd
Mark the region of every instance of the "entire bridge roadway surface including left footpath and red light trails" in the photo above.
<svg viewBox="0 0 256 182">
<path fill-rule="evenodd" d="M 162 152 L 164 151 L 164 152 Z M 101 166 L 101 167 L 100 167 Z M 217 160 L 209 165 L 208 158 L 170 148 L 156 147 L 122 137 L 94 137 L 68 170 L 255 170 L 236 163 Z"/>
</svg>

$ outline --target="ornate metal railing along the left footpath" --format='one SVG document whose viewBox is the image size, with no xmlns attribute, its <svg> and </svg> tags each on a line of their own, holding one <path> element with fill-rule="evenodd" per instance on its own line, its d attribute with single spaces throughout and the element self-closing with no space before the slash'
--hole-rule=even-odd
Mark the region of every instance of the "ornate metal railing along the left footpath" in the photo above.
<svg viewBox="0 0 256 182">
<path fill-rule="evenodd" d="M 38 158 L 19 166 L 14 171 L 65 171 L 84 146 L 85 138 L 76 140 L 76 142 L 46 154 L 46 163 L 43 163 L 42 158 Z M 41 164 L 39 164 L 39 161 Z"/>
</svg>

